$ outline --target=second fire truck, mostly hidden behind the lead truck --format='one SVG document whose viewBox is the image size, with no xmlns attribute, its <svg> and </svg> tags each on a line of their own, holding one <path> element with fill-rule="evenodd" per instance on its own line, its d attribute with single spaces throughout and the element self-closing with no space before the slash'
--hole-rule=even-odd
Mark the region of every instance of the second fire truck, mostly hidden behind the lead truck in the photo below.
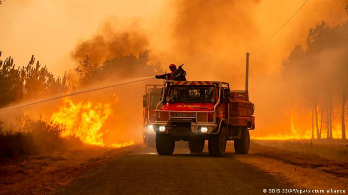
<svg viewBox="0 0 348 195">
<path fill-rule="evenodd" d="M 163 85 L 146 85 L 143 96 L 143 141 L 147 146 L 155 145 L 156 132 L 152 123 L 156 121 L 155 109 L 160 102 Z"/>
</svg>

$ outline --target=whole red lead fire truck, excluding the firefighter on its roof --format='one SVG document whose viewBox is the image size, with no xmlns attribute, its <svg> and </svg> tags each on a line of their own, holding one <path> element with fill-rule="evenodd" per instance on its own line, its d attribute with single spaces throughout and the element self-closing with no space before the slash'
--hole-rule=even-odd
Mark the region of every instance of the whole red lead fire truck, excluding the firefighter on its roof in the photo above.
<svg viewBox="0 0 348 195">
<path fill-rule="evenodd" d="M 255 129 L 254 104 L 248 91 L 231 91 L 217 81 L 165 81 L 157 104 L 156 149 L 171 155 L 175 141 L 188 141 L 191 152 L 202 152 L 205 140 L 209 154 L 223 156 L 227 141 L 236 153 L 249 151 L 249 130 Z"/>
</svg>

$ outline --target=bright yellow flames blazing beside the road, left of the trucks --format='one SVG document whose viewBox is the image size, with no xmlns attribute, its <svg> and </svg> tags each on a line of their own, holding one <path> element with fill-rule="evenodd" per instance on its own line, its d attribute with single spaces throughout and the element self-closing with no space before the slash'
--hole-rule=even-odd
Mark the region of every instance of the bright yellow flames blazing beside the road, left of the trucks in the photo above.
<svg viewBox="0 0 348 195">
<path fill-rule="evenodd" d="M 66 98 L 59 111 L 52 114 L 50 121 L 65 126 L 60 134 L 63 138 L 73 136 L 85 144 L 96 146 L 124 147 L 133 145 L 133 139 L 122 144 L 104 144 L 103 136 L 107 131 L 102 131 L 101 127 L 110 113 L 109 103 L 93 105 L 90 101 L 87 103 L 81 101 L 75 104 L 71 99 Z"/>
</svg>

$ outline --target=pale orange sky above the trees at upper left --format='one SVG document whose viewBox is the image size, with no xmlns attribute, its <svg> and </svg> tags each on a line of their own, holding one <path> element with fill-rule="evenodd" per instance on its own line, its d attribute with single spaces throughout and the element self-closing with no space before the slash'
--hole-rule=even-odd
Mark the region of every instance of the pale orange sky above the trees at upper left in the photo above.
<svg viewBox="0 0 348 195">
<path fill-rule="evenodd" d="M 88 39 L 109 16 L 127 19 L 152 17 L 161 0 L 6 0 L 0 5 L 0 50 L 17 65 L 32 54 L 53 73 L 74 67 L 70 53 Z M 126 23 L 126 22 L 125 22 Z"/>
</svg>

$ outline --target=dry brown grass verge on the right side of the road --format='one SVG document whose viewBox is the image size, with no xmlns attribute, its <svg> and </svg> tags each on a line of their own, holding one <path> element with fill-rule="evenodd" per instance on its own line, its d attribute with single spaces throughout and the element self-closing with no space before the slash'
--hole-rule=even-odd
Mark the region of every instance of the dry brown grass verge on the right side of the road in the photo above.
<svg viewBox="0 0 348 195">
<path fill-rule="evenodd" d="M 347 192 L 348 165 L 346 156 L 340 154 L 345 147 L 341 142 L 253 141 L 250 154 L 237 158 L 272 175 L 286 177 L 302 188 Z"/>
</svg>

